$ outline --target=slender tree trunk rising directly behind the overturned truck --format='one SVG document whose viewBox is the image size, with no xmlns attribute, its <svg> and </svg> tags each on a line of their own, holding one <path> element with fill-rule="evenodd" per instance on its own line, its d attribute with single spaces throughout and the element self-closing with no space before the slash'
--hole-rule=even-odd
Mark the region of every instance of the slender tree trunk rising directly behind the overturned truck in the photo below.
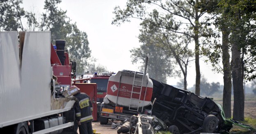
<svg viewBox="0 0 256 134">
<path fill-rule="evenodd" d="M 196 94 L 200 96 L 200 79 L 201 79 L 201 74 L 200 74 L 200 65 L 199 65 L 199 27 L 198 27 L 198 22 L 199 22 L 199 16 L 198 16 L 198 9 L 196 9 L 196 18 L 195 18 L 195 27 L 194 27 L 194 41 L 195 41 L 195 64 L 196 64 Z"/>
</svg>

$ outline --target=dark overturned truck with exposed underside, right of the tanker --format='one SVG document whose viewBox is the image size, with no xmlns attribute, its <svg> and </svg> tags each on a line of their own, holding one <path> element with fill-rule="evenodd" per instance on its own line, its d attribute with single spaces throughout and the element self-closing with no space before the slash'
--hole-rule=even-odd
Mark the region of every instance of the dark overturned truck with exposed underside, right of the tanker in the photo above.
<svg viewBox="0 0 256 134">
<path fill-rule="evenodd" d="M 175 88 L 154 79 L 152 115 L 174 134 L 225 133 L 233 123 L 225 119 L 222 106 L 212 99 Z"/>
</svg>

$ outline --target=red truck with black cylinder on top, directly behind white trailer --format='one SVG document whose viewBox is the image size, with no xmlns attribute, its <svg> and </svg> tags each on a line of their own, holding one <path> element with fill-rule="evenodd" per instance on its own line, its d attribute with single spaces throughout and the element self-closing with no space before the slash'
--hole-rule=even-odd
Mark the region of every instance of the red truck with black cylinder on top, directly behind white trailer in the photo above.
<svg viewBox="0 0 256 134">
<path fill-rule="evenodd" d="M 64 50 L 65 40 L 55 41 L 56 49 L 51 45 L 51 64 L 53 67 L 53 75 L 57 77 L 57 82 L 62 86 L 61 88 L 77 86 L 81 92 L 89 95 L 93 112 L 94 121 L 97 120 L 97 85 L 94 83 L 83 83 L 80 80 L 71 83 L 71 79 L 75 78 L 76 62 L 75 59 L 69 59 L 69 54 Z"/>
</svg>

